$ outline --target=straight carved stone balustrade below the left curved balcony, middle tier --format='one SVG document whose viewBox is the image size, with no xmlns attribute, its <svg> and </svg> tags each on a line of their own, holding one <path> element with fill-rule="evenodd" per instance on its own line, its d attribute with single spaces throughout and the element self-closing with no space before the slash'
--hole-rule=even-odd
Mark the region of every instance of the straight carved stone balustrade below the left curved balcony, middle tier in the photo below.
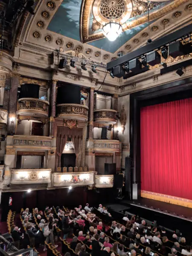
<svg viewBox="0 0 192 256">
<path fill-rule="evenodd" d="M 34 135 L 14 135 L 14 148 L 36 148 L 39 150 L 51 150 L 52 137 Z"/>
</svg>

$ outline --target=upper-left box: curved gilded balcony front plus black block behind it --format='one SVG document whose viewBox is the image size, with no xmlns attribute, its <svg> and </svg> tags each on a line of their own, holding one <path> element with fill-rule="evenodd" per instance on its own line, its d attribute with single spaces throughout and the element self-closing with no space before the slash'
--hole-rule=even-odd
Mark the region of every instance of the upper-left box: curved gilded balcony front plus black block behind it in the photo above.
<svg viewBox="0 0 192 256">
<path fill-rule="evenodd" d="M 47 117 L 49 102 L 39 99 L 38 84 L 22 84 L 18 100 L 18 115 Z"/>
</svg>

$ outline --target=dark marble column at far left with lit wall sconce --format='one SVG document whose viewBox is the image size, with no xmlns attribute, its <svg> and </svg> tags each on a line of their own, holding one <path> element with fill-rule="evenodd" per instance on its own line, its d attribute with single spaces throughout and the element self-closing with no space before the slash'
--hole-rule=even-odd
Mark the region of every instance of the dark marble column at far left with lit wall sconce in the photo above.
<svg viewBox="0 0 192 256">
<path fill-rule="evenodd" d="M 15 132 L 16 111 L 17 111 L 17 89 L 19 86 L 19 79 L 20 79 L 19 74 L 12 73 L 10 99 L 9 99 L 9 118 L 8 118 L 8 127 L 7 127 L 8 133 Z M 6 108 L 6 105 L 4 107 Z"/>
</svg>

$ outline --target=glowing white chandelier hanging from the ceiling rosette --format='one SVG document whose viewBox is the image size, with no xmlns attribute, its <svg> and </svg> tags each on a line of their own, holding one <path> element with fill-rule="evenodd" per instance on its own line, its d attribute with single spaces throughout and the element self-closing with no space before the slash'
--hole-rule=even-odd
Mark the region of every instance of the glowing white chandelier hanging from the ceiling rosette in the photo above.
<svg viewBox="0 0 192 256">
<path fill-rule="evenodd" d="M 109 39 L 109 41 L 115 41 L 116 38 L 122 33 L 122 26 L 110 21 L 103 26 L 103 34 Z"/>
</svg>

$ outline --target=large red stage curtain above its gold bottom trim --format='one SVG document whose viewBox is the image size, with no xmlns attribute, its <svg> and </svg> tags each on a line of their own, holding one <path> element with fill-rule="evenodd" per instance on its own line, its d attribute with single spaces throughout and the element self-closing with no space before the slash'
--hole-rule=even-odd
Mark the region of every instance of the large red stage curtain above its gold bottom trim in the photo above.
<svg viewBox="0 0 192 256">
<path fill-rule="evenodd" d="M 141 108 L 141 189 L 192 199 L 192 99 Z"/>
</svg>

